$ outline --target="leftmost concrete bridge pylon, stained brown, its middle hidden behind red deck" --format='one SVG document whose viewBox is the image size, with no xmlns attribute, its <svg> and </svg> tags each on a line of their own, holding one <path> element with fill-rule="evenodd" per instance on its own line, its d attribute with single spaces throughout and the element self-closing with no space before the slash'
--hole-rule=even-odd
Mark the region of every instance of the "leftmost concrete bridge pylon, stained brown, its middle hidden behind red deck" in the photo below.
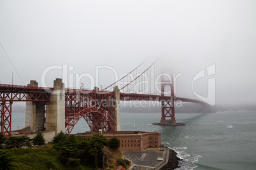
<svg viewBox="0 0 256 170">
<path fill-rule="evenodd" d="M 38 82 L 30 81 L 27 86 L 38 87 Z M 45 124 L 45 102 L 27 101 L 25 105 L 25 127 L 29 131 L 42 131 Z"/>
</svg>

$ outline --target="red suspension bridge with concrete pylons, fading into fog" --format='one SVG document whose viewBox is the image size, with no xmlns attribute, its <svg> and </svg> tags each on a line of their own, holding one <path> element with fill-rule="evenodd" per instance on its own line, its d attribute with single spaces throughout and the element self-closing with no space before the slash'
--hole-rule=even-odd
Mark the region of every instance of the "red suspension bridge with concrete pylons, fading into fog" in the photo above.
<svg viewBox="0 0 256 170">
<path fill-rule="evenodd" d="M 158 62 L 143 62 L 104 89 L 65 88 L 62 79 L 56 79 L 53 88 L 38 87 L 36 81 L 27 86 L 0 84 L 0 126 L 5 136 L 11 136 L 15 101 L 26 101 L 25 126 L 30 131 L 67 134 L 80 119 L 87 121 L 91 131 L 120 131 L 120 101 L 159 101 L 164 125 L 178 125 L 176 101 L 199 103 L 204 112 L 210 112 L 204 101 L 175 96 L 173 76 L 162 72 Z"/>
</svg>

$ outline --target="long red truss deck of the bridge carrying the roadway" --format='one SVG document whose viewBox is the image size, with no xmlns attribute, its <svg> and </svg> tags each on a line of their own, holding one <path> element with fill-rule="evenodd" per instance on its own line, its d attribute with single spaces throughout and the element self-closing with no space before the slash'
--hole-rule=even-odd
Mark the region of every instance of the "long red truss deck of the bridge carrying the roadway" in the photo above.
<svg viewBox="0 0 256 170">
<path fill-rule="evenodd" d="M 0 101 L 49 101 L 53 88 L 17 86 L 10 84 L 0 84 Z M 113 91 L 94 91 L 88 89 L 65 89 L 65 100 L 113 100 Z M 83 97 L 82 97 L 83 96 Z M 110 99 L 111 98 L 111 99 Z M 176 101 L 185 101 L 199 104 L 207 104 L 203 101 L 190 98 L 174 97 Z M 120 100 L 130 101 L 168 101 L 171 96 L 120 93 Z"/>
</svg>

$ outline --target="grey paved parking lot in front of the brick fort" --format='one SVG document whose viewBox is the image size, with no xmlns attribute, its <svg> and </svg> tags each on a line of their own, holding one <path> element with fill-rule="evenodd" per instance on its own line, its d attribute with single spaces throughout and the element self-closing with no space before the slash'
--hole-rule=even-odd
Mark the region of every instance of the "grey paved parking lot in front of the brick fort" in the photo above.
<svg viewBox="0 0 256 170">
<path fill-rule="evenodd" d="M 149 148 L 141 152 L 124 152 L 127 159 L 131 160 L 134 166 L 138 169 L 154 169 L 161 161 L 157 160 L 157 157 L 164 158 L 167 153 L 167 149 L 160 151 L 159 148 Z"/>
</svg>

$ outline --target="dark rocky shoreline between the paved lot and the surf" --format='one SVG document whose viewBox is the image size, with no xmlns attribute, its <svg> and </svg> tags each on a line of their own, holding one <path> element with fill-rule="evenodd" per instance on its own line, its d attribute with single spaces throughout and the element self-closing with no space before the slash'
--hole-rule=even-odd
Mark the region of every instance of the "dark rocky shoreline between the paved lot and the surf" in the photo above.
<svg viewBox="0 0 256 170">
<path fill-rule="evenodd" d="M 169 149 L 169 148 L 168 148 Z M 177 153 L 172 150 L 169 149 L 169 161 L 167 162 L 166 165 L 164 165 L 161 170 L 172 170 L 172 169 L 176 169 L 177 167 L 179 167 L 179 160 L 181 160 L 179 157 L 177 157 Z"/>
</svg>

